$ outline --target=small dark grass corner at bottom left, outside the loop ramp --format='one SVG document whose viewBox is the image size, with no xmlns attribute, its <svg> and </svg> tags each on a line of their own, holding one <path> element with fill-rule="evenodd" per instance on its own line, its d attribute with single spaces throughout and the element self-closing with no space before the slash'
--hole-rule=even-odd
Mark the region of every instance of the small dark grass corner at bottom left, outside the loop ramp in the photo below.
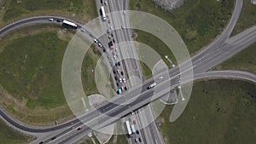
<svg viewBox="0 0 256 144">
<path fill-rule="evenodd" d="M 0 144 L 26 144 L 32 141 L 32 137 L 22 135 L 13 130 L 0 119 Z"/>
</svg>

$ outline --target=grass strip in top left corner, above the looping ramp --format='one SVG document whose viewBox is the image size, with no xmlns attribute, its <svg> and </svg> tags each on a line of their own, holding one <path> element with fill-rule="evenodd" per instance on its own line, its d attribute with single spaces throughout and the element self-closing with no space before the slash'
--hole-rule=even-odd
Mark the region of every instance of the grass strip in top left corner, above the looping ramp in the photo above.
<svg viewBox="0 0 256 144">
<path fill-rule="evenodd" d="M 97 17 L 94 0 L 4 0 L 1 9 L 0 26 L 13 20 L 42 14 L 62 15 L 81 23 Z"/>
</svg>

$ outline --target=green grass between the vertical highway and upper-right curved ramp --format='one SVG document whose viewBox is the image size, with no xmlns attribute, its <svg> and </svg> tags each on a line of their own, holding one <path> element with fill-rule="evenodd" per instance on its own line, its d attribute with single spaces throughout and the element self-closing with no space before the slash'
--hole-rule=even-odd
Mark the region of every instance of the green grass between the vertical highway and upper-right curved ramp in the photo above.
<svg viewBox="0 0 256 144">
<path fill-rule="evenodd" d="M 189 0 L 170 13 L 155 6 L 152 1 L 131 0 L 130 3 L 130 9 L 157 15 L 172 25 L 183 37 L 190 54 L 210 43 L 223 30 L 233 6 L 234 0 Z M 152 38 L 150 41 L 154 42 Z"/>
</svg>

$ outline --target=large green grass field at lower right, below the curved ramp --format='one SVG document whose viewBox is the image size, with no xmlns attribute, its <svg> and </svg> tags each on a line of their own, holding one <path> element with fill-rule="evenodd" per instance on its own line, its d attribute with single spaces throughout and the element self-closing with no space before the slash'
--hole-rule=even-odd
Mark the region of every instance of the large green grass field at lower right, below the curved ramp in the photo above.
<svg viewBox="0 0 256 144">
<path fill-rule="evenodd" d="M 169 122 L 172 107 L 157 119 L 166 143 L 254 144 L 256 85 L 236 80 L 195 82 L 180 118 Z"/>
</svg>

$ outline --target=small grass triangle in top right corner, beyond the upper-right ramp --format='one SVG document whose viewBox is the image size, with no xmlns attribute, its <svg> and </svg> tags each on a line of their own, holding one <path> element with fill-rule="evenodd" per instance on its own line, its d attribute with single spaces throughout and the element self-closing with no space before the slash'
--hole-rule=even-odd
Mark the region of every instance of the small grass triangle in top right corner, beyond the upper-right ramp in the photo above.
<svg viewBox="0 0 256 144">
<path fill-rule="evenodd" d="M 254 25 L 256 25 L 256 5 L 250 0 L 244 0 L 241 15 L 231 35 L 236 35 Z"/>
</svg>

